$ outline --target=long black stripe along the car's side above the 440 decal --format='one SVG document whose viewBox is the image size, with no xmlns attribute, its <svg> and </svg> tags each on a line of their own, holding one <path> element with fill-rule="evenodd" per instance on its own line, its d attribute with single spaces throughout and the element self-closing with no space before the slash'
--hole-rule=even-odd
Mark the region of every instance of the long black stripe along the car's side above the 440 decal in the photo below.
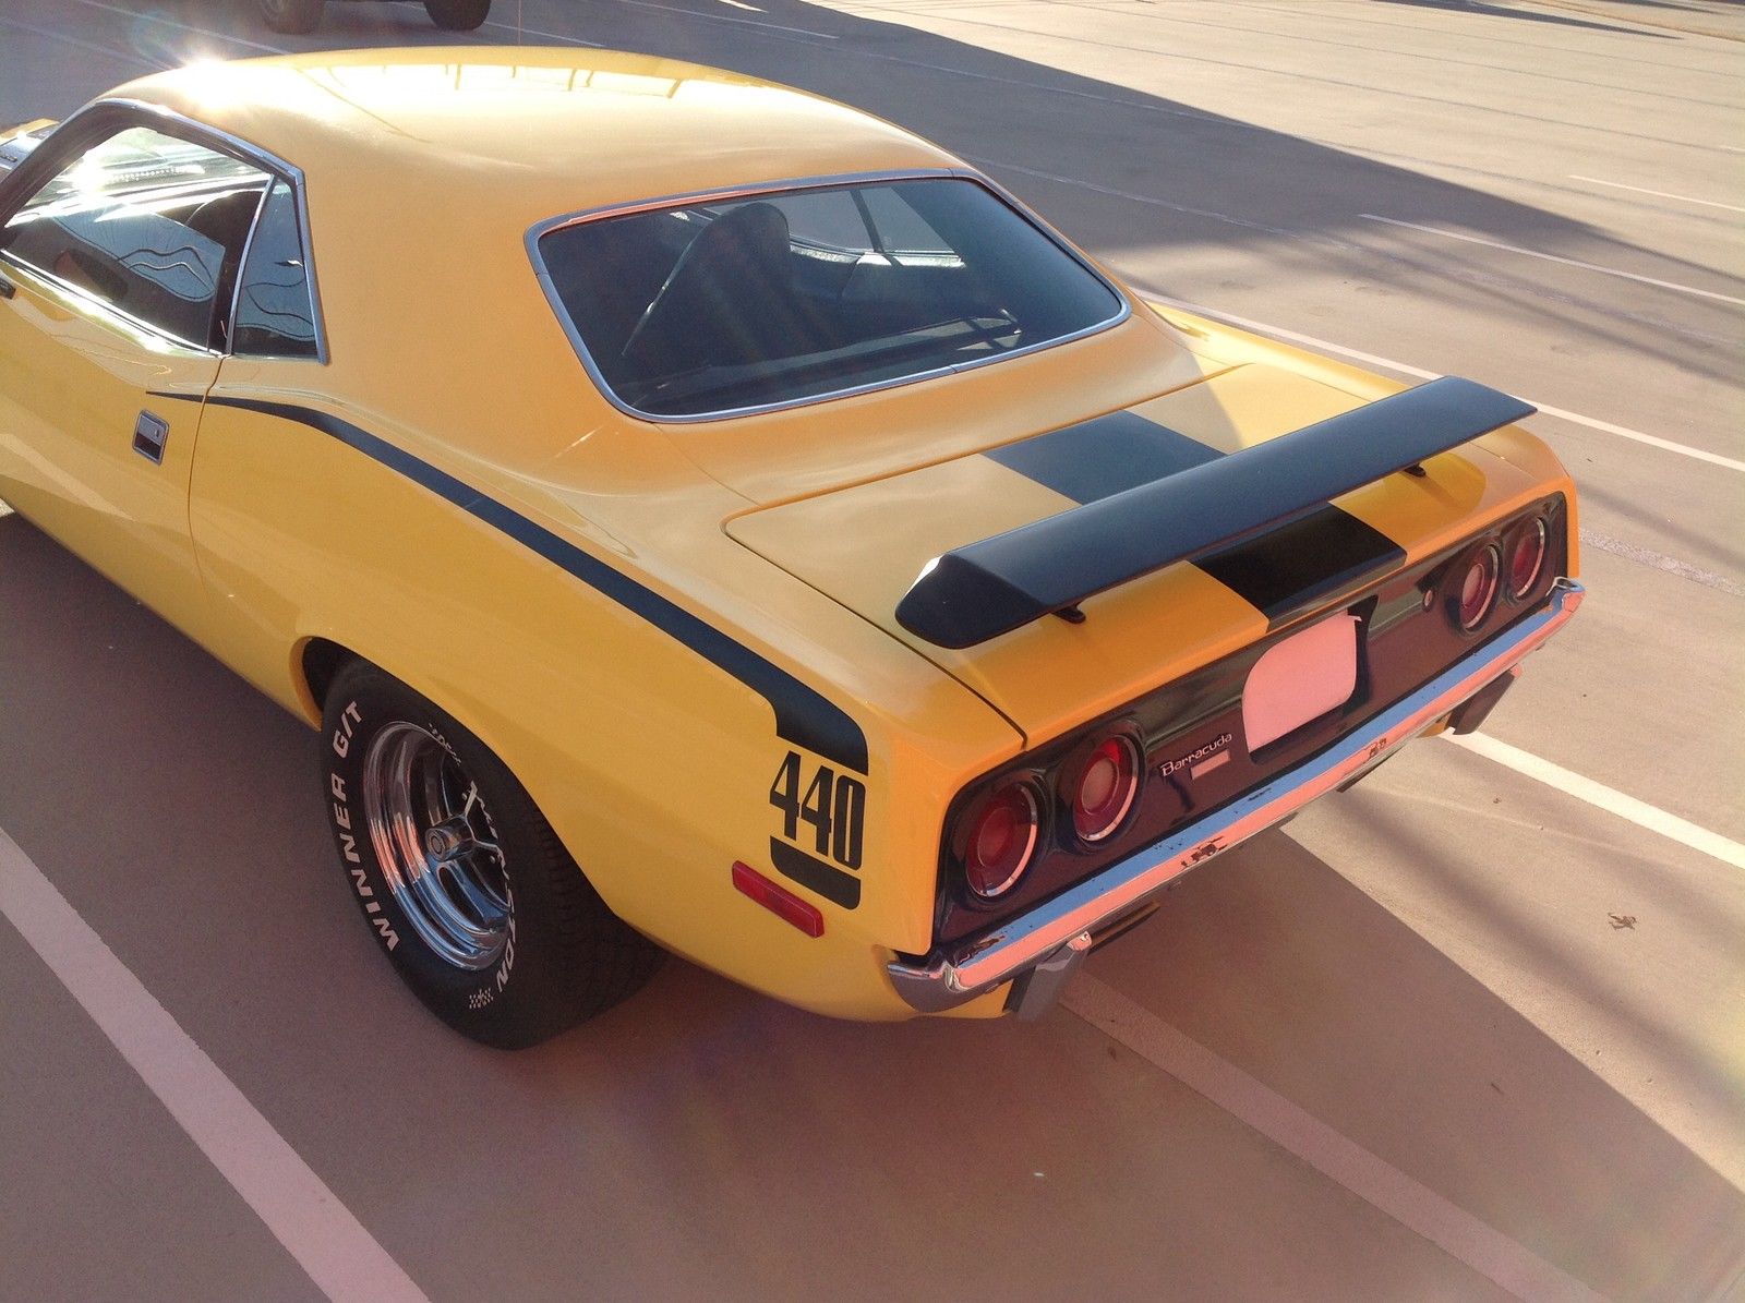
<svg viewBox="0 0 1745 1303">
<path fill-rule="evenodd" d="M 181 394 L 166 396 L 181 398 Z M 263 403 L 253 398 L 208 398 L 206 401 L 213 406 L 260 412 L 262 415 L 295 420 L 318 429 L 429 488 L 438 497 L 448 499 L 462 511 L 503 530 L 517 542 L 539 553 L 558 569 L 604 593 L 612 602 L 618 602 L 654 628 L 677 638 L 705 661 L 750 687 L 775 712 L 777 736 L 836 761 L 855 773 L 864 774 L 867 771 L 866 733 L 834 701 L 799 682 L 787 670 L 764 659 L 750 647 L 735 642 L 721 630 L 703 623 L 684 607 L 667 600 L 651 588 L 644 588 L 630 576 L 614 570 L 600 558 L 560 539 L 543 525 L 536 525 L 518 511 L 485 497 L 452 474 L 438 471 L 429 462 L 419 460 L 403 448 L 396 448 L 387 440 L 377 438 L 366 429 L 359 429 L 328 412 L 290 403 Z M 859 897 L 859 883 L 855 883 L 855 895 Z"/>
</svg>

